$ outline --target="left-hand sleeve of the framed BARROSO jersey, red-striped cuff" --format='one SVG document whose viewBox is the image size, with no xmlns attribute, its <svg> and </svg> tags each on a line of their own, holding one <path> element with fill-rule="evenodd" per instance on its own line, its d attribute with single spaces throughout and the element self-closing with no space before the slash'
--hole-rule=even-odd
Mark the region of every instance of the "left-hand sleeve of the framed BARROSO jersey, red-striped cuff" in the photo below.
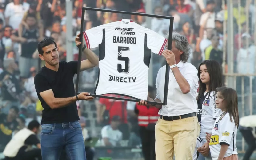
<svg viewBox="0 0 256 160">
<path fill-rule="evenodd" d="M 97 26 L 83 32 L 87 48 L 96 48 L 102 42 L 103 27 Z"/>
</svg>

